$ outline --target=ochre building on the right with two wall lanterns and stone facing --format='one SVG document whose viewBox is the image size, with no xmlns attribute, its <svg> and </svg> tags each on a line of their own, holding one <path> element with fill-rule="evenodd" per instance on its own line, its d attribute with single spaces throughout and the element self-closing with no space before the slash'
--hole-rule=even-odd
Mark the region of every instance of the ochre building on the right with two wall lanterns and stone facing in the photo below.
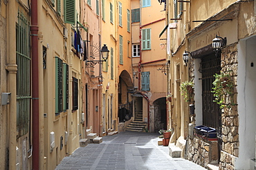
<svg viewBox="0 0 256 170">
<path fill-rule="evenodd" d="M 171 156 L 180 151 L 203 167 L 254 169 L 255 1 L 168 2 L 167 21 Z"/>
</svg>

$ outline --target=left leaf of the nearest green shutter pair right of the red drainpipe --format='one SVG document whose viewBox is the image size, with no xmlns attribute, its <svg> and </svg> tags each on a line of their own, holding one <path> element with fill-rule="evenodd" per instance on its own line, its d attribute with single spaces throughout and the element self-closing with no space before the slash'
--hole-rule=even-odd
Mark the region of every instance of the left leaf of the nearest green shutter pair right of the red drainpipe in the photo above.
<svg viewBox="0 0 256 170">
<path fill-rule="evenodd" d="M 63 63 L 55 57 L 55 116 L 63 111 Z"/>
</svg>

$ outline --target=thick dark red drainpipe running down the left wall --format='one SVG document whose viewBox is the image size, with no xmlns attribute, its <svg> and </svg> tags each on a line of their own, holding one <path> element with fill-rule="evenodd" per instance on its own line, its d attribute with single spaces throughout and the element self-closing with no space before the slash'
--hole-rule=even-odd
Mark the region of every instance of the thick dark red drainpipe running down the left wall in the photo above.
<svg viewBox="0 0 256 170">
<path fill-rule="evenodd" d="M 31 1 L 33 169 L 39 169 L 39 72 L 37 0 Z"/>
</svg>

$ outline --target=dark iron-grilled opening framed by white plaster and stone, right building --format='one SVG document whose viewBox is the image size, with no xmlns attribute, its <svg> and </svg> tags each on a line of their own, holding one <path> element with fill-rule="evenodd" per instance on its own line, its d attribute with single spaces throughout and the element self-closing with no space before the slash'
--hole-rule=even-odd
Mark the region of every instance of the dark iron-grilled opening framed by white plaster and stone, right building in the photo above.
<svg viewBox="0 0 256 170">
<path fill-rule="evenodd" d="M 221 70 L 220 55 L 210 54 L 201 59 L 200 72 L 202 73 L 202 90 L 203 90 L 203 125 L 219 129 L 221 126 L 221 109 L 215 102 L 212 94 L 212 83 L 214 74 L 219 74 Z"/>
</svg>

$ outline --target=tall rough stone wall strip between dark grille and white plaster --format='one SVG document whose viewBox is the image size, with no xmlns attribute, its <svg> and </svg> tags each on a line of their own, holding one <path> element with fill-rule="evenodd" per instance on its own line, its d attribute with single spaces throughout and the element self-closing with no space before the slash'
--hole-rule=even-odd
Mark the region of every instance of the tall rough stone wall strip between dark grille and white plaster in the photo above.
<svg viewBox="0 0 256 170">
<path fill-rule="evenodd" d="M 221 54 L 221 72 L 230 73 L 234 81 L 234 94 L 226 95 L 225 104 L 231 107 L 222 109 L 222 149 L 219 169 L 235 169 L 239 154 L 239 120 L 237 111 L 237 43 L 226 47 Z"/>
</svg>

